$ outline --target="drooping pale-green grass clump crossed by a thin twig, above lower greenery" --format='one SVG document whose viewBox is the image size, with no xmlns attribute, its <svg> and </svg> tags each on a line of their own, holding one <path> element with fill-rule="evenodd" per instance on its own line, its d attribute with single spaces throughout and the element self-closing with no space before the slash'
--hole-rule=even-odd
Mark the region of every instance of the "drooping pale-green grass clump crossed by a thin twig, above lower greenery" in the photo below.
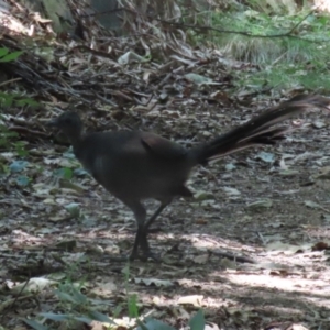
<svg viewBox="0 0 330 330">
<path fill-rule="evenodd" d="M 207 32 L 207 37 L 205 32 L 191 31 L 191 38 L 196 43 L 211 42 L 237 59 L 261 64 L 283 55 L 282 62 L 309 61 L 324 58 L 329 51 L 330 21 L 327 16 L 311 14 L 305 18 L 306 12 L 270 15 L 253 10 L 204 14 L 208 18 L 208 26 L 219 31 Z M 202 24 L 202 18 L 200 21 Z"/>
</svg>

